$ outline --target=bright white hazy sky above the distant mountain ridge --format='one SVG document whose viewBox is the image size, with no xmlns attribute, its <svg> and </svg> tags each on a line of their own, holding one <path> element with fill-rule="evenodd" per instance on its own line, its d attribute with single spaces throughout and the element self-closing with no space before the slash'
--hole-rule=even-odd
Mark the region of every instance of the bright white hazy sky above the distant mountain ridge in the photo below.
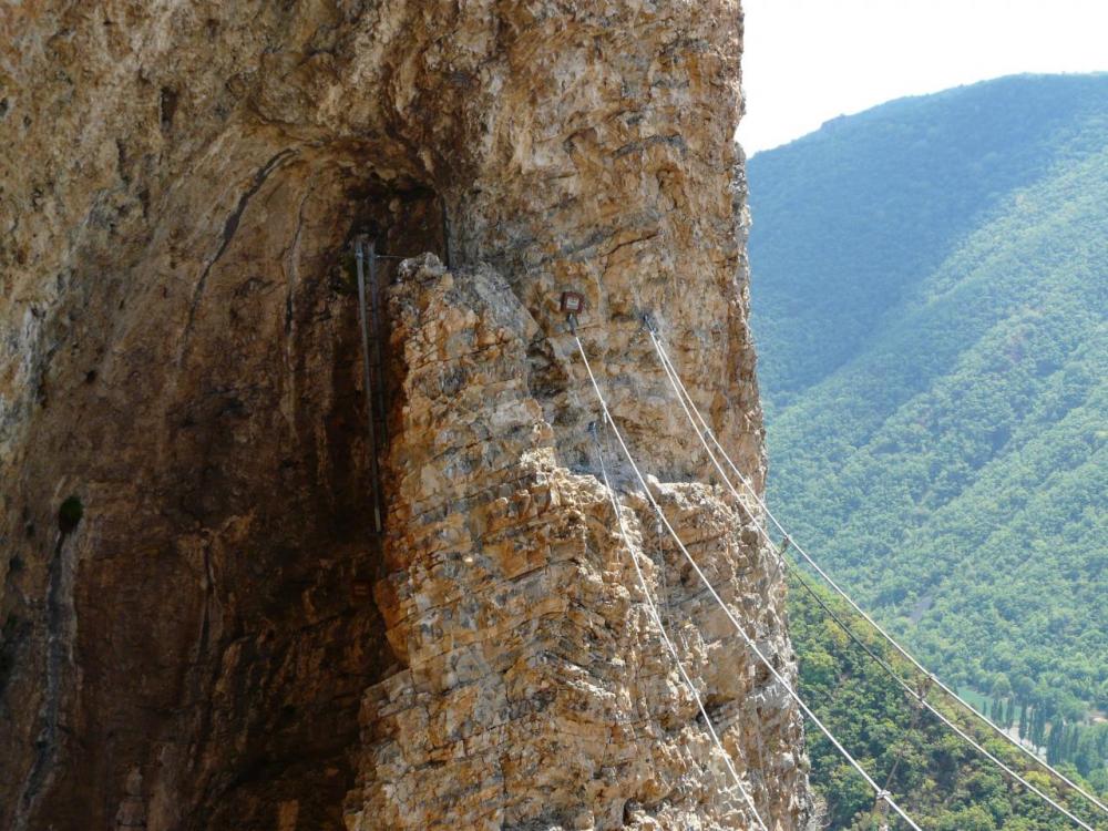
<svg viewBox="0 0 1108 831">
<path fill-rule="evenodd" d="M 747 153 L 1017 72 L 1108 70 L 1108 0 L 743 0 Z"/>
</svg>

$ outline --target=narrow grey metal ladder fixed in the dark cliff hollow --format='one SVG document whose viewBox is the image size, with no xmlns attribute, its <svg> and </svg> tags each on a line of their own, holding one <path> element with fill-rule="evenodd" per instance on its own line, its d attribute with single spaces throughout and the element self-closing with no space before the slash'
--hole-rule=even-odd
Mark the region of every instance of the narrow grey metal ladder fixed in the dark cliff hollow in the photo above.
<svg viewBox="0 0 1108 831">
<path fill-rule="evenodd" d="M 384 361 L 381 357 L 381 304 L 377 274 L 377 242 L 366 236 L 355 237 L 353 256 L 358 268 L 358 321 L 361 326 L 362 386 L 366 389 L 366 421 L 369 428 L 370 474 L 373 480 L 373 532 L 384 531 L 384 494 L 381 490 L 381 454 L 389 447 L 389 402 L 384 383 Z M 369 273 L 369 308 L 366 306 L 366 273 Z M 372 327 L 369 317 L 372 316 Z"/>
</svg>

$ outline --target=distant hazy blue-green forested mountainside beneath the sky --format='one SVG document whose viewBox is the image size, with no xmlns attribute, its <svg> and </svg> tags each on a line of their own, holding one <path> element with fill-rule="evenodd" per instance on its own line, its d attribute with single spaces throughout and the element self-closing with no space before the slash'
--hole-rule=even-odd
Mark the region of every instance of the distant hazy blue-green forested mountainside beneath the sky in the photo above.
<svg viewBox="0 0 1108 831">
<path fill-rule="evenodd" d="M 749 182 L 780 515 L 943 677 L 1104 777 L 1108 74 L 896 101 Z"/>
</svg>

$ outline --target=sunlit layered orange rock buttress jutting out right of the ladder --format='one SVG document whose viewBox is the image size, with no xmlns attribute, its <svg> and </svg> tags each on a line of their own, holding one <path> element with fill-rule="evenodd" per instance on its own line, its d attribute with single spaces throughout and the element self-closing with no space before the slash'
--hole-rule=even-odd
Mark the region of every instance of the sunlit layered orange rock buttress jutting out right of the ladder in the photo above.
<svg viewBox="0 0 1108 831">
<path fill-rule="evenodd" d="M 378 596 L 404 669 L 366 696 L 352 828 L 752 828 L 650 623 L 604 488 L 558 460 L 529 388 L 538 326 L 492 271 L 449 274 L 433 258 L 406 265 L 394 305 L 397 533 Z M 707 485 L 657 495 L 784 666 L 779 562 L 752 544 L 748 517 Z M 751 663 L 646 501 L 626 513 L 760 812 L 794 827 L 804 781 L 786 691 Z"/>
</svg>

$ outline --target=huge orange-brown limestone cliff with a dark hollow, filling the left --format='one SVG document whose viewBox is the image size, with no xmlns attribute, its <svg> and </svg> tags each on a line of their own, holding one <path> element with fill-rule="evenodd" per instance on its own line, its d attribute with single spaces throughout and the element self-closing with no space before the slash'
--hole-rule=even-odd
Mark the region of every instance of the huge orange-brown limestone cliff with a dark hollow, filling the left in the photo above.
<svg viewBox="0 0 1108 831">
<path fill-rule="evenodd" d="M 760 482 L 740 34 L 730 1 L 0 12 L 0 827 L 750 827 L 557 312 L 587 296 L 659 500 L 791 671 L 776 555 L 696 483 L 639 320 Z M 356 233 L 431 253 L 384 275 L 382 540 Z M 616 478 L 737 768 L 800 828 L 796 711 Z"/>
</svg>

